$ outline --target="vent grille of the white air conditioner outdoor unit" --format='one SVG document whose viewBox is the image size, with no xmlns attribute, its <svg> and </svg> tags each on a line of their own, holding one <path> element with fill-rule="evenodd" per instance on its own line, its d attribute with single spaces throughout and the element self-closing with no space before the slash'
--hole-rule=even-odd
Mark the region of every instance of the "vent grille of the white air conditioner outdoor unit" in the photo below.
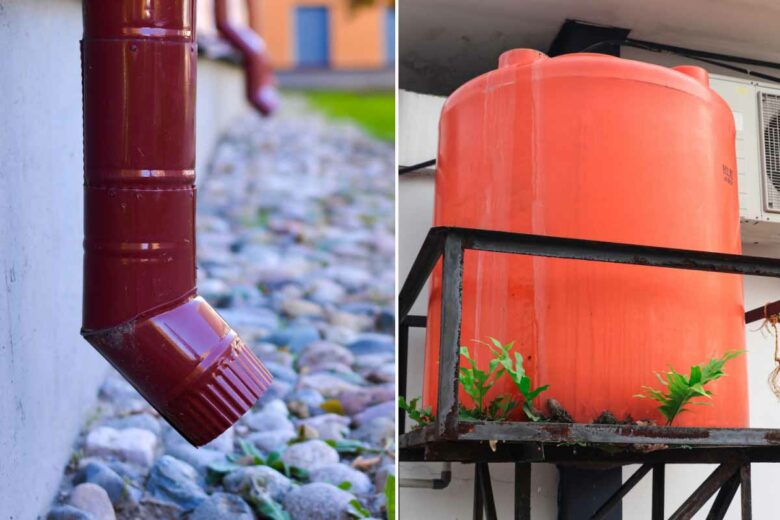
<svg viewBox="0 0 780 520">
<path fill-rule="evenodd" d="M 765 211 L 780 213 L 780 96 L 761 93 Z"/>
</svg>

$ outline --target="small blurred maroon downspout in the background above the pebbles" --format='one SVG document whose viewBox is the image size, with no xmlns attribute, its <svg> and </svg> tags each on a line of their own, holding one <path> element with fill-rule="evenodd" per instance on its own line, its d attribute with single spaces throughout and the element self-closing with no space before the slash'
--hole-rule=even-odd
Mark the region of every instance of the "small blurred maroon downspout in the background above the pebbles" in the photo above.
<svg viewBox="0 0 780 520">
<path fill-rule="evenodd" d="M 279 105 L 273 71 L 263 39 L 251 28 L 235 26 L 228 16 L 228 0 L 214 0 L 217 30 L 244 58 L 246 97 L 249 103 L 267 116 Z"/>
</svg>

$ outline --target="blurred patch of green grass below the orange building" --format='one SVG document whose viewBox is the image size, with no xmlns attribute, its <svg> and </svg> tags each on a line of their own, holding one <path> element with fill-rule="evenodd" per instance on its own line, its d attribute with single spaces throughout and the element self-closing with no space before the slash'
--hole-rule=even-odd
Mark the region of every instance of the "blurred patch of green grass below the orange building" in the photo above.
<svg viewBox="0 0 780 520">
<path fill-rule="evenodd" d="M 309 91 L 311 106 L 335 119 L 350 119 L 378 139 L 395 139 L 395 93 Z"/>
</svg>

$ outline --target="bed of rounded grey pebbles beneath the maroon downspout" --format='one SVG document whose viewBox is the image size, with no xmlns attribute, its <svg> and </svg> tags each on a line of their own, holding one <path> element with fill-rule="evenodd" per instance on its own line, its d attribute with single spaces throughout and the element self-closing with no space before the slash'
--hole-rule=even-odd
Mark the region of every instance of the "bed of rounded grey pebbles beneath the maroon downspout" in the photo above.
<svg viewBox="0 0 780 520">
<path fill-rule="evenodd" d="M 274 382 L 196 449 L 111 371 L 48 518 L 347 519 L 356 499 L 382 515 L 389 470 L 325 441 L 360 439 L 381 460 L 395 449 L 393 146 L 291 99 L 231 124 L 211 164 L 198 172 L 199 291 Z M 90 497 L 102 509 L 83 509 Z"/>
</svg>

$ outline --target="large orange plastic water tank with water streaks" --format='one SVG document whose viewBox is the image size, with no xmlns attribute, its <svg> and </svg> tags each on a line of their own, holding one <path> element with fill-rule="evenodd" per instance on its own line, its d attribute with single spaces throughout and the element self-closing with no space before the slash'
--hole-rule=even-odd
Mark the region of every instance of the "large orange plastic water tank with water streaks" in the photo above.
<svg viewBox="0 0 780 520">
<path fill-rule="evenodd" d="M 740 253 L 734 137 L 698 67 L 509 51 L 444 106 L 434 224 Z M 434 408 L 440 269 L 425 360 Z M 662 424 L 634 397 L 660 386 L 654 372 L 744 348 L 738 275 L 466 251 L 463 276 L 461 344 L 487 368 L 474 340 L 515 341 L 534 384 L 550 385 L 535 404 L 555 398 L 578 422 L 610 410 Z M 745 357 L 726 373 L 713 406 L 676 425 L 747 426 Z M 505 392 L 517 396 L 508 378 L 489 397 Z"/>
</svg>

